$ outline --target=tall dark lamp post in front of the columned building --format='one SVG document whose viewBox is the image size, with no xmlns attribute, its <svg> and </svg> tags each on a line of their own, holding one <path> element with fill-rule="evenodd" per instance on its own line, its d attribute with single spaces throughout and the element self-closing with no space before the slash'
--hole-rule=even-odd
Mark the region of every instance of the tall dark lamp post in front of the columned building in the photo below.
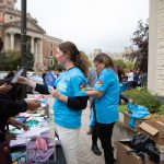
<svg viewBox="0 0 164 164">
<path fill-rule="evenodd" d="M 26 0 L 21 0 L 21 68 L 26 77 Z M 22 97 L 26 97 L 26 87 L 23 87 Z"/>
</svg>

